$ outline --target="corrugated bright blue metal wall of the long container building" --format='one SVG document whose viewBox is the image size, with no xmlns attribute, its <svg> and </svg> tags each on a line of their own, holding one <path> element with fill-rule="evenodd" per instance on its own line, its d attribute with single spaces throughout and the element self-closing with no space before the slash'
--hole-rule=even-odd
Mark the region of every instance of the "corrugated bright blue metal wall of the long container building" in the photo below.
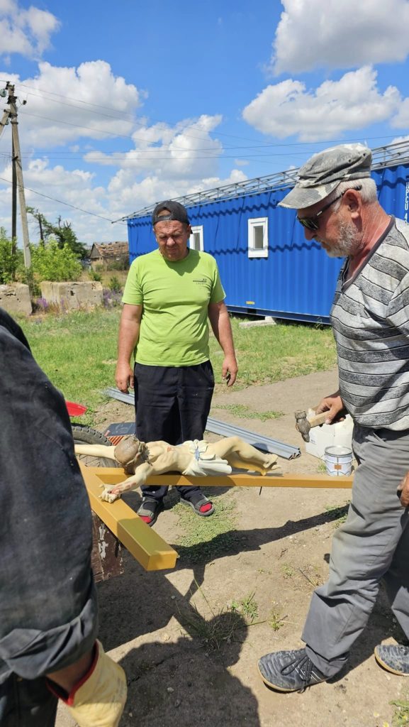
<svg viewBox="0 0 409 727">
<path fill-rule="evenodd" d="M 386 167 L 373 178 L 386 212 L 408 220 L 409 166 Z M 295 213 L 278 207 L 287 191 L 192 206 L 190 222 L 203 225 L 204 249 L 217 260 L 230 310 L 328 323 L 341 260 L 307 242 Z M 252 217 L 268 217 L 267 258 L 248 257 Z M 128 233 L 131 260 L 155 249 L 150 217 L 128 220 Z"/>
</svg>

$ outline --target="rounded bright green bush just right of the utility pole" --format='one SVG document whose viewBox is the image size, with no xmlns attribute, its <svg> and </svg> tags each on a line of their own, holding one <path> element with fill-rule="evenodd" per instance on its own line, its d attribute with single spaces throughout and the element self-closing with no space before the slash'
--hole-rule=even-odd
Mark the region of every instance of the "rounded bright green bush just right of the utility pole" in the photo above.
<svg viewBox="0 0 409 727">
<path fill-rule="evenodd" d="M 31 269 L 37 282 L 78 280 L 82 272 L 72 249 L 67 244 L 60 248 L 54 238 L 45 245 L 31 246 Z"/>
</svg>

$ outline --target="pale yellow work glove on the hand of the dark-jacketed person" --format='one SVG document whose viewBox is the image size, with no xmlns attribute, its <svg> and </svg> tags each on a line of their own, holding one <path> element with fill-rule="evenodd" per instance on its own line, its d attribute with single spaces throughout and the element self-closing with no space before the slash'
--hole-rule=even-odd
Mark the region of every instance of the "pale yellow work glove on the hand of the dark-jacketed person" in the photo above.
<svg viewBox="0 0 409 727">
<path fill-rule="evenodd" d="M 78 727 L 118 727 L 126 702 L 125 672 L 98 640 L 96 648 L 89 672 L 63 701 Z"/>
</svg>

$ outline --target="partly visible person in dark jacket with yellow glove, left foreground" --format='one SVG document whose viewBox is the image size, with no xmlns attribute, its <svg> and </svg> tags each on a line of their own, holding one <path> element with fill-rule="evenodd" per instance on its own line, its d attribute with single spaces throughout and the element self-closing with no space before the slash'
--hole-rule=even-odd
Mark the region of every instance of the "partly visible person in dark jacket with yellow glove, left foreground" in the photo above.
<svg viewBox="0 0 409 727">
<path fill-rule="evenodd" d="M 52 727 L 60 698 L 80 727 L 117 727 L 126 680 L 97 641 L 68 411 L 1 308 L 0 360 L 0 726 Z"/>
</svg>

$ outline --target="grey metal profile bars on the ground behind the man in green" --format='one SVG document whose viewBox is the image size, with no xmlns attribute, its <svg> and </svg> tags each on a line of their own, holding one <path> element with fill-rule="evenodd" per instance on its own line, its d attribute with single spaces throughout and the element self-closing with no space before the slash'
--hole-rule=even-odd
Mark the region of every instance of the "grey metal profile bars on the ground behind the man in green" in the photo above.
<svg viewBox="0 0 409 727">
<path fill-rule="evenodd" d="M 118 389 L 114 389 L 112 387 L 105 389 L 105 394 L 127 404 L 134 403 L 134 397 L 132 394 L 124 394 Z M 278 456 L 283 457 L 283 459 L 296 459 L 296 457 L 299 457 L 301 454 L 299 447 L 280 442 L 277 439 L 264 437 L 262 434 L 256 434 L 247 429 L 227 424 L 226 422 L 218 422 L 216 419 L 212 419 L 211 417 L 208 417 L 206 429 L 208 432 L 220 434 L 224 437 L 241 437 L 245 442 L 252 444 L 254 447 L 257 447 L 257 449 L 271 452 L 272 454 L 278 454 Z"/>
</svg>

